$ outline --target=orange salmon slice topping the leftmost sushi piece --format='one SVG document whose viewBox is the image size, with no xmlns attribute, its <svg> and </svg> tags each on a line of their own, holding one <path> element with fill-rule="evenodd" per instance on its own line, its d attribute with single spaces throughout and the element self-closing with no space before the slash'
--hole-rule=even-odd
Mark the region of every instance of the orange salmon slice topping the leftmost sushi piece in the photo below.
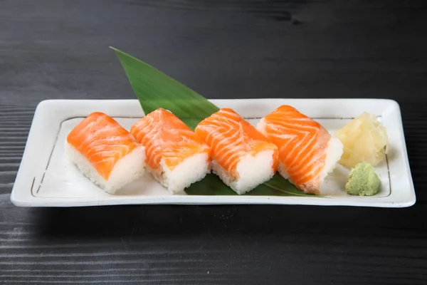
<svg viewBox="0 0 427 285">
<path fill-rule="evenodd" d="M 91 113 L 75 126 L 67 142 L 86 157 L 105 180 L 118 160 L 139 147 L 125 128 L 100 112 Z"/>
</svg>

